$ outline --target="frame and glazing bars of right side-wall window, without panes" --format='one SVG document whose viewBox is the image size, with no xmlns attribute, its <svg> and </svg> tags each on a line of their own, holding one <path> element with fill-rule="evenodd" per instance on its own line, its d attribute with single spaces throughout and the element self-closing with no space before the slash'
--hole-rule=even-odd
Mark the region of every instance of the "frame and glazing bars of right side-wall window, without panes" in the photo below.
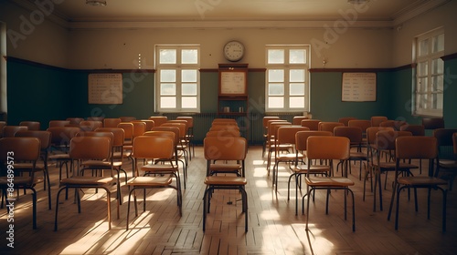
<svg viewBox="0 0 457 255">
<path fill-rule="evenodd" d="M 416 116 L 424 117 L 442 117 L 442 108 L 444 103 L 444 89 L 433 90 L 434 84 L 433 80 L 437 77 L 441 80 L 441 84 L 436 85 L 436 87 L 444 88 L 444 63 L 442 64 L 441 72 L 432 73 L 432 62 L 435 60 L 441 61 L 441 57 L 444 56 L 444 46 L 441 51 L 432 52 L 432 38 L 434 36 L 444 35 L 444 28 L 440 27 L 433 29 L 427 33 L 424 33 L 420 36 L 416 36 L 413 40 L 413 62 L 415 67 L 413 70 L 413 89 L 412 89 L 412 112 Z M 429 40 L 428 45 L 428 54 L 420 56 L 420 43 L 424 40 Z M 444 38 L 443 38 L 444 44 Z M 422 75 L 420 72 L 420 63 L 427 63 L 426 75 Z M 440 78 L 441 77 L 441 78 Z M 420 79 L 426 79 L 427 85 L 425 90 L 420 90 Z M 425 102 L 422 103 L 420 100 L 421 95 L 425 95 Z M 441 108 L 430 108 L 433 104 L 433 100 L 437 100 L 437 104 L 441 105 Z M 425 106 L 425 107 L 422 107 Z"/>
</svg>

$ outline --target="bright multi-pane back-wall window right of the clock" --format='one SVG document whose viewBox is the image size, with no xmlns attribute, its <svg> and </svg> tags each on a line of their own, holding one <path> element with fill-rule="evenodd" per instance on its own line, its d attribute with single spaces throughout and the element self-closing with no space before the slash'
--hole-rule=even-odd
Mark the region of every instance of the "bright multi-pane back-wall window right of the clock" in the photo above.
<svg viewBox="0 0 457 255">
<path fill-rule="evenodd" d="M 308 111 L 309 46 L 267 46 L 267 112 Z"/>
</svg>

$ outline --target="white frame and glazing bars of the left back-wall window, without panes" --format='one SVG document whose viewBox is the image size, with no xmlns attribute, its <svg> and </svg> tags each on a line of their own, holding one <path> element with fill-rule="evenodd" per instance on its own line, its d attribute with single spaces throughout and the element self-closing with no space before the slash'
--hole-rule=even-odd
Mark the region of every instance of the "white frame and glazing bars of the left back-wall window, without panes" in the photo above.
<svg viewBox="0 0 457 255">
<path fill-rule="evenodd" d="M 164 49 L 176 50 L 176 59 L 175 63 L 160 63 L 160 51 Z M 182 63 L 182 50 L 186 49 L 196 49 L 197 50 L 197 63 L 196 64 L 183 64 Z M 200 112 L 200 45 L 155 45 L 154 46 L 154 66 L 155 66 L 155 77 L 154 77 L 154 111 L 155 112 L 164 112 L 164 113 L 199 113 Z M 175 95 L 161 95 L 162 84 L 166 82 L 161 82 L 161 73 L 163 70 L 175 70 Z M 182 71 L 185 70 L 195 70 L 197 72 L 197 95 L 183 95 L 182 87 L 185 84 L 191 84 L 194 82 L 184 82 L 182 80 Z M 165 97 L 174 97 L 175 98 L 175 107 L 162 107 L 162 100 Z M 185 108 L 182 107 L 182 100 L 185 97 L 197 97 L 197 107 L 196 108 Z"/>
</svg>

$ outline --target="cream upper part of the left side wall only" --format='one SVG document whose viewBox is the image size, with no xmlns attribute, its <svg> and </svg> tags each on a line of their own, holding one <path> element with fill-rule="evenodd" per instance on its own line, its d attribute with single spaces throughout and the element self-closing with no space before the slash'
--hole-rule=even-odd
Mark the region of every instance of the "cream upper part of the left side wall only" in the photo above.
<svg viewBox="0 0 457 255">
<path fill-rule="evenodd" d="M 50 14 L 48 10 L 34 6 L 27 11 L 9 2 L 0 2 L 0 20 L 7 29 L 8 56 L 50 66 L 69 66 L 69 31 L 45 19 Z"/>
</svg>

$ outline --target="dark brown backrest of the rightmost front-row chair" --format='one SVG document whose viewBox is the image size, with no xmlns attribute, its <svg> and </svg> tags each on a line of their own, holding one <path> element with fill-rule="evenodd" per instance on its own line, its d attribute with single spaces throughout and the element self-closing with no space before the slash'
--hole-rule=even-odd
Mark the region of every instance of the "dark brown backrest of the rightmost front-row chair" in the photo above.
<svg viewBox="0 0 457 255">
<path fill-rule="evenodd" d="M 399 137 L 395 140 L 395 156 L 399 159 L 437 158 L 438 145 L 433 137 Z"/>
</svg>

